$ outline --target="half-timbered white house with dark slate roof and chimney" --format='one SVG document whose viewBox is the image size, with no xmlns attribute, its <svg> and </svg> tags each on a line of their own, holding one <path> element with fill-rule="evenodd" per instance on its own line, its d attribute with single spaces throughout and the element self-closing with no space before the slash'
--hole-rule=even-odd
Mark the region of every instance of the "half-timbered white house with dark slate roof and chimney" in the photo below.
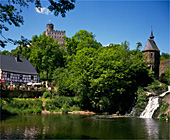
<svg viewBox="0 0 170 140">
<path fill-rule="evenodd" d="M 7 56 L 0 54 L 0 79 L 5 83 L 37 83 L 38 73 L 34 66 L 26 59 L 17 56 Z"/>
</svg>

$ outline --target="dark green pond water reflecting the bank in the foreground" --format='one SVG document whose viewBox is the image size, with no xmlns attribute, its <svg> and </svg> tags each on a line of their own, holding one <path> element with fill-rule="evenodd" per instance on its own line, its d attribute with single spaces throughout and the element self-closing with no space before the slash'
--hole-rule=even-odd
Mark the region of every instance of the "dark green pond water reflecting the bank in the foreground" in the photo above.
<svg viewBox="0 0 170 140">
<path fill-rule="evenodd" d="M 76 114 L 14 116 L 1 121 L 0 139 L 170 139 L 170 123 L 144 118 Z"/>
</svg>

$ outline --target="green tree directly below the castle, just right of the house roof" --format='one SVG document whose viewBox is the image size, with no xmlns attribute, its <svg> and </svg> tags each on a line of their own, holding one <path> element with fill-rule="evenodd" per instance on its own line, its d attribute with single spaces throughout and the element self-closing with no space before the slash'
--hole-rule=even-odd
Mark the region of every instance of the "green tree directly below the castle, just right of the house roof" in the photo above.
<svg viewBox="0 0 170 140">
<path fill-rule="evenodd" d="M 58 67 L 64 67 L 65 51 L 59 48 L 57 41 L 45 34 L 33 36 L 30 62 L 40 73 L 40 78 L 51 79 L 53 71 Z M 44 77 L 44 74 L 46 76 Z"/>
</svg>

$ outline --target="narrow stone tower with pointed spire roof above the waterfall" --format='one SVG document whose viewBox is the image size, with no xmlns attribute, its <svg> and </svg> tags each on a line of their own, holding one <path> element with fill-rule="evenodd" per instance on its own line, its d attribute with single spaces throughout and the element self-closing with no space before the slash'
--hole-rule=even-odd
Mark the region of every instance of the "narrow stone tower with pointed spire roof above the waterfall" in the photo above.
<svg viewBox="0 0 170 140">
<path fill-rule="evenodd" d="M 154 71 L 154 76 L 159 79 L 160 50 L 158 49 L 151 29 L 150 39 L 147 40 L 142 53 L 145 55 L 150 70 Z"/>
</svg>

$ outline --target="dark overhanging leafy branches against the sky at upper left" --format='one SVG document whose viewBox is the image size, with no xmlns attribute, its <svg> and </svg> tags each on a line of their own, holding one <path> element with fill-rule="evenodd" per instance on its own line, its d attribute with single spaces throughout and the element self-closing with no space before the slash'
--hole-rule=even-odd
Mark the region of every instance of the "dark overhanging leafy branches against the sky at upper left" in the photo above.
<svg viewBox="0 0 170 140">
<path fill-rule="evenodd" d="M 74 9 L 75 0 L 48 0 L 48 9 L 54 13 L 55 16 L 61 14 L 65 17 L 67 11 Z M 9 31 L 9 25 L 20 27 L 24 24 L 22 14 L 22 8 L 29 6 L 30 3 L 34 3 L 35 6 L 41 11 L 41 0 L 8 0 L 0 3 L 0 34 L 3 40 L 0 40 L 0 46 L 5 47 L 6 43 L 23 44 L 26 45 L 29 40 L 21 36 L 20 41 L 7 38 L 3 35 L 3 31 Z M 19 7 L 19 8 L 18 8 Z"/>
</svg>

